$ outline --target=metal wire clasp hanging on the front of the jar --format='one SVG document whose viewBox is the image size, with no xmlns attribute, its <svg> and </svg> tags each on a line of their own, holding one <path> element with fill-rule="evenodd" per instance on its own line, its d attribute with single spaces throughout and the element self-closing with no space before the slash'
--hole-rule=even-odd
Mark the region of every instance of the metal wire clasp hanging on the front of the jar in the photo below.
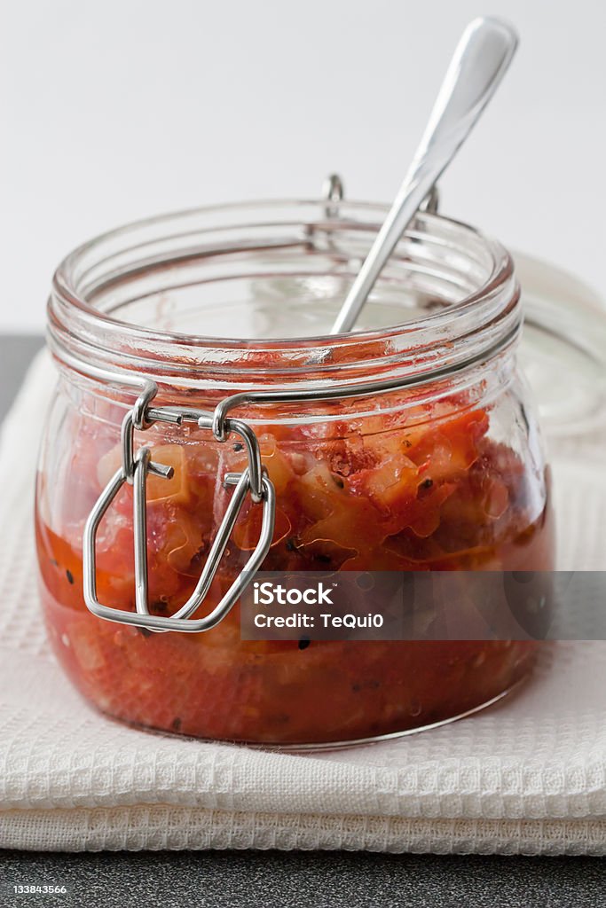
<svg viewBox="0 0 606 908">
<path fill-rule="evenodd" d="M 215 414 L 204 410 L 184 407 L 152 407 L 151 401 L 156 393 L 155 383 L 145 381 L 143 392 L 136 400 L 133 409 L 129 410 L 124 417 L 121 433 L 122 464 L 105 486 L 86 520 L 83 539 L 84 602 L 94 615 L 109 621 L 146 627 L 154 631 L 177 630 L 197 633 L 215 627 L 222 620 L 261 567 L 263 558 L 272 544 L 275 495 L 272 481 L 263 470 L 259 444 L 250 426 L 241 419 L 225 419 L 223 416 L 217 419 Z M 176 425 L 194 422 L 201 429 L 212 432 L 217 441 L 225 441 L 235 433 L 242 439 L 248 456 L 248 466 L 242 473 L 227 473 L 224 476 L 224 484 L 234 487 L 232 497 L 217 529 L 194 592 L 172 617 L 155 616 L 149 613 L 145 492 L 147 477 L 150 473 L 164 479 L 171 479 L 174 470 L 172 467 L 152 460 L 152 452 L 147 447 L 134 451 L 134 430 L 144 431 L 153 426 L 155 422 L 168 422 Z M 133 486 L 135 612 L 104 606 L 99 602 L 96 590 L 97 530 L 105 512 L 125 482 Z M 191 620 L 190 616 L 203 604 L 211 587 L 231 536 L 233 525 L 249 492 L 253 502 L 263 504 L 261 532 L 256 548 L 213 611 L 205 617 Z"/>
</svg>

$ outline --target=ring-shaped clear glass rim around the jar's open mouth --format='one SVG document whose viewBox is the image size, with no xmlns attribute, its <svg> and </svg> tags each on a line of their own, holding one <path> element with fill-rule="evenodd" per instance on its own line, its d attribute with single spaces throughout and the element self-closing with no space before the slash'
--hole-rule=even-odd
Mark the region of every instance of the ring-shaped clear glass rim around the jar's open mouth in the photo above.
<svg viewBox="0 0 606 908">
<path fill-rule="evenodd" d="M 482 255 L 482 281 L 471 292 L 464 293 L 460 300 L 400 324 L 336 335 L 230 339 L 163 331 L 122 321 L 111 311 L 95 307 L 90 299 L 91 292 L 98 292 L 99 287 L 110 286 L 112 281 L 129 280 L 137 270 L 154 268 L 156 262 L 166 265 L 195 255 L 195 251 L 188 250 L 186 245 L 181 252 L 175 250 L 177 254 L 172 259 L 170 255 L 166 257 L 162 252 L 154 252 L 158 238 L 166 238 L 169 234 L 172 240 L 186 244 L 193 242 L 196 233 L 208 239 L 214 230 L 222 232 L 230 226 L 252 231 L 268 226 L 293 227 L 296 223 L 300 228 L 313 227 L 335 235 L 345 229 L 367 232 L 370 233 L 369 242 L 372 242 L 387 206 L 343 201 L 330 202 L 330 210 L 325 200 L 228 202 L 154 215 L 85 242 L 65 257 L 53 278 L 48 325 L 50 345 L 56 358 L 62 360 L 62 351 L 67 351 L 69 357 L 63 359 L 71 359 L 72 365 L 77 360 L 84 374 L 87 361 L 99 358 L 114 361 L 118 369 L 144 370 L 147 362 L 150 368 L 164 374 L 183 373 L 181 366 L 190 372 L 206 370 L 204 380 L 207 381 L 208 370 L 213 374 L 220 373 L 222 365 L 224 370 L 233 370 L 236 361 L 237 368 L 242 368 L 247 375 L 249 372 L 256 374 L 263 357 L 266 360 L 271 352 L 275 362 L 281 357 L 284 361 L 277 362 L 277 366 L 274 362 L 275 368 L 270 370 L 265 363 L 263 371 L 266 373 L 280 372 L 283 377 L 289 374 L 289 380 L 296 380 L 294 373 L 300 371 L 302 375 L 305 363 L 314 362 L 316 365 L 323 363 L 320 379 L 332 380 L 338 377 L 331 374 L 332 369 L 341 373 L 343 379 L 344 363 L 348 368 L 357 363 L 371 369 L 377 359 L 387 359 L 392 366 L 399 360 L 401 365 L 408 367 L 414 360 L 414 367 L 422 369 L 423 361 L 428 360 L 435 366 L 436 360 L 455 354 L 453 346 L 457 343 L 472 345 L 477 361 L 479 344 L 484 343 L 488 352 L 497 334 L 509 335 L 512 339 L 517 336 L 521 324 L 520 293 L 509 252 L 500 242 L 483 236 L 470 225 L 429 212 L 418 213 L 394 255 L 401 250 L 403 259 L 412 254 L 411 250 L 428 242 L 442 243 L 442 246 L 451 242 L 452 250 L 456 242 L 472 243 L 470 254 L 472 258 L 476 256 L 476 266 L 479 265 L 478 256 Z M 256 214 L 255 221 L 250 221 L 251 212 Z M 298 212 L 299 221 L 293 219 L 293 214 L 291 220 L 283 218 L 280 221 L 280 215 L 288 212 Z M 263 217 L 270 215 L 273 220 L 264 222 Z M 406 246 L 408 248 L 404 248 Z M 228 249 L 233 252 L 233 248 Z M 136 261 L 137 251 L 145 256 L 139 262 Z M 215 254 L 223 251 L 220 244 L 214 247 Z M 461 249 L 459 253 L 463 254 Z M 160 258 L 154 259 L 154 254 L 159 254 Z M 133 261 L 127 261 L 129 255 L 135 255 Z M 338 352 L 336 366 L 333 361 L 335 351 Z M 346 351 L 344 357 L 343 351 Z M 357 371 L 356 374 L 361 373 Z"/>
</svg>

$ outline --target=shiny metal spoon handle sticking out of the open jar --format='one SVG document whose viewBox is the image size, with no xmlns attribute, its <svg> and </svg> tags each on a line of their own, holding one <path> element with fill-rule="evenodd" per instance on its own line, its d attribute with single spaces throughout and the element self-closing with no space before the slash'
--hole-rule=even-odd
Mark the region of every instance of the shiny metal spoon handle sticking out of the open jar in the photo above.
<svg viewBox="0 0 606 908">
<path fill-rule="evenodd" d="M 492 98 L 512 61 L 517 45 L 518 36 L 512 26 L 491 16 L 474 19 L 463 32 L 421 144 L 392 209 L 343 302 L 333 324 L 332 334 L 352 331 L 385 262 L 419 205 L 445 167 L 451 163 Z"/>
</svg>

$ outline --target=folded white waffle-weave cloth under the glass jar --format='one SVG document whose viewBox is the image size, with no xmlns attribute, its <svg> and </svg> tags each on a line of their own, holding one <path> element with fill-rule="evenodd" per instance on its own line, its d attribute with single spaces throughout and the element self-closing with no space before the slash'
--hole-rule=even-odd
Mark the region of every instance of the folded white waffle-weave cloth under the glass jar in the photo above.
<svg viewBox="0 0 606 908">
<path fill-rule="evenodd" d="M 498 706 L 420 735 L 293 755 L 146 734 L 97 714 L 45 639 L 39 357 L 0 445 L 0 846 L 606 854 L 606 643 L 553 646 Z M 603 442 L 603 439 L 602 439 Z M 560 443 L 561 568 L 604 568 L 603 449 Z"/>
</svg>

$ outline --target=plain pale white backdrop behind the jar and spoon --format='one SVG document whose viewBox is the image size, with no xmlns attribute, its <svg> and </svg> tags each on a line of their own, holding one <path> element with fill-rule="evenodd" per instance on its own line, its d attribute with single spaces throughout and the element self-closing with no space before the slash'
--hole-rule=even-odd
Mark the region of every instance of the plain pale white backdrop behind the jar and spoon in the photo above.
<svg viewBox="0 0 606 908">
<path fill-rule="evenodd" d="M 0 29 L 0 331 L 37 331 L 55 264 L 163 210 L 389 201 L 462 28 L 522 44 L 442 180 L 442 210 L 606 292 L 601 0 L 21 0 Z"/>
</svg>

